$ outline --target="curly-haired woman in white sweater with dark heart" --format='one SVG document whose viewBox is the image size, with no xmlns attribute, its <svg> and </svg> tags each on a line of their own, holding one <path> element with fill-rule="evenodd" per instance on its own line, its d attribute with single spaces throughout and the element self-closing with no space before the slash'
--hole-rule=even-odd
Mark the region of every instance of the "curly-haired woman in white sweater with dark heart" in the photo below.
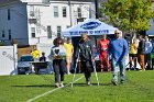
<svg viewBox="0 0 154 102">
<path fill-rule="evenodd" d="M 55 72 L 55 87 L 64 87 L 64 70 L 65 70 L 65 59 L 66 49 L 63 45 L 63 39 L 57 37 L 54 39 L 54 46 L 51 49 L 51 56 L 53 57 L 53 68 Z M 61 76 L 61 81 L 59 81 Z"/>
</svg>

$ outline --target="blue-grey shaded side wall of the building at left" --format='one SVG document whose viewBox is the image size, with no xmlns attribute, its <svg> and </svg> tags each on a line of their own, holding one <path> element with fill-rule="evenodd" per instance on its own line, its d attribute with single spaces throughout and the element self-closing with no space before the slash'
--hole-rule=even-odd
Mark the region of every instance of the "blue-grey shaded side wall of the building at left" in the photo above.
<svg viewBox="0 0 154 102">
<path fill-rule="evenodd" d="M 8 10 L 10 10 L 10 20 L 8 20 Z M 18 39 L 19 44 L 28 44 L 28 19 L 26 5 L 24 3 L 1 7 L 0 24 L 0 39 L 2 42 L 11 44 L 12 39 Z M 9 39 L 9 30 L 11 32 L 11 39 Z M 2 37 L 3 31 L 4 37 Z"/>
</svg>

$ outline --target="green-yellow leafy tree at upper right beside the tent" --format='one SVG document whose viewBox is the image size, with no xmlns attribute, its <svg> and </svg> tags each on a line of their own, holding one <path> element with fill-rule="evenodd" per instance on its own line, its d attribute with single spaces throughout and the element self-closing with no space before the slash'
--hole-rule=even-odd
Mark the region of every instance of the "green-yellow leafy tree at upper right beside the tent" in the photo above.
<svg viewBox="0 0 154 102">
<path fill-rule="evenodd" d="M 150 0 L 108 0 L 100 8 L 103 22 L 129 33 L 150 29 L 150 20 L 154 16 Z"/>
</svg>

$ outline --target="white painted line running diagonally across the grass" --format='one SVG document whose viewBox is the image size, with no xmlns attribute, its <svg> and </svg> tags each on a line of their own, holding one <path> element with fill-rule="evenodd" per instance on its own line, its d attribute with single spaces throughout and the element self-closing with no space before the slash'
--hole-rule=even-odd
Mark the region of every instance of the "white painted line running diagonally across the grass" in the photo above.
<svg viewBox="0 0 154 102">
<path fill-rule="evenodd" d="M 78 80 L 80 80 L 80 79 L 82 79 L 82 78 L 84 78 L 84 76 L 79 77 L 79 78 L 76 79 L 74 82 L 76 82 L 76 81 L 78 81 Z M 72 83 L 73 83 L 73 82 L 69 82 L 69 83 L 66 84 L 65 87 L 72 84 Z M 50 91 L 47 91 L 47 92 L 45 92 L 45 93 L 43 93 L 43 94 L 36 95 L 35 98 L 29 99 L 26 102 L 32 102 L 32 101 L 34 101 L 34 100 L 41 98 L 41 97 L 44 97 L 44 95 L 46 95 L 46 94 L 48 94 L 48 93 L 52 93 L 52 92 L 54 92 L 54 91 L 56 91 L 56 90 L 59 90 L 59 89 L 62 89 L 62 88 L 65 88 L 65 87 L 59 87 L 59 88 L 55 88 L 55 89 L 53 89 L 53 90 L 50 90 Z"/>
</svg>

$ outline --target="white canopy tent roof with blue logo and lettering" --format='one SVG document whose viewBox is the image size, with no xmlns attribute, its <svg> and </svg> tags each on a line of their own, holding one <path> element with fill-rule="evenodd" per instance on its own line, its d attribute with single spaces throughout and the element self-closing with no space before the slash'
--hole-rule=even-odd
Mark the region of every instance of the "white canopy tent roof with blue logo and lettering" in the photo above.
<svg viewBox="0 0 154 102">
<path fill-rule="evenodd" d="M 102 35 L 102 34 L 114 34 L 117 27 L 108 25 L 96 19 L 86 19 L 84 22 L 72 26 L 62 32 L 62 37 L 67 36 L 80 36 L 82 33 L 88 35 Z"/>
</svg>

